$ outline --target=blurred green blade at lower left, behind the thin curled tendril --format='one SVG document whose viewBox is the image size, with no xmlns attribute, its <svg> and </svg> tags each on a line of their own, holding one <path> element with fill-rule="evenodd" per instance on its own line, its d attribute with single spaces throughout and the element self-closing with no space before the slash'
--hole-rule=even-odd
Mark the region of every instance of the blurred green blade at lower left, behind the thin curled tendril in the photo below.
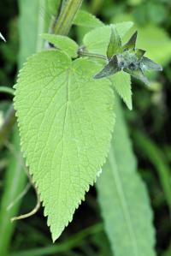
<svg viewBox="0 0 171 256">
<path fill-rule="evenodd" d="M 4 179 L 4 192 L 0 211 L 0 254 L 6 255 L 9 251 L 11 236 L 14 232 L 15 223 L 10 218 L 17 214 L 21 202 L 16 203 L 9 211 L 7 207 L 15 200 L 23 190 L 26 183 L 26 174 L 20 152 L 20 138 L 18 128 L 15 126 L 13 140 L 14 152 L 9 153 L 9 166 Z"/>
</svg>

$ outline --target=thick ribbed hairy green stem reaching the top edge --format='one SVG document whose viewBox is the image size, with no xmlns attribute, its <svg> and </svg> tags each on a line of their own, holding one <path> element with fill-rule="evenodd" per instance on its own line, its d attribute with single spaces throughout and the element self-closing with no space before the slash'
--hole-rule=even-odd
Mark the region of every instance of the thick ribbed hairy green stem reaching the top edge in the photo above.
<svg viewBox="0 0 171 256">
<path fill-rule="evenodd" d="M 74 16 L 80 9 L 82 0 L 68 0 L 62 6 L 61 13 L 56 21 L 54 33 L 67 35 L 74 20 Z"/>
</svg>

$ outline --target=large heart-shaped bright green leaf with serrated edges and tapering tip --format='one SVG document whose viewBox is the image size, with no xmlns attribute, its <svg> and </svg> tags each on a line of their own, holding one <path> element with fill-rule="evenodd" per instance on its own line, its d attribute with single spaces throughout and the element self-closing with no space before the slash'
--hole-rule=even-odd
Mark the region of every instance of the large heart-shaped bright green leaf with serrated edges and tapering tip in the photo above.
<svg viewBox="0 0 171 256">
<path fill-rule="evenodd" d="M 113 91 L 93 80 L 99 65 L 61 51 L 28 59 L 15 86 L 21 146 L 53 241 L 96 180 L 114 127 Z"/>
</svg>

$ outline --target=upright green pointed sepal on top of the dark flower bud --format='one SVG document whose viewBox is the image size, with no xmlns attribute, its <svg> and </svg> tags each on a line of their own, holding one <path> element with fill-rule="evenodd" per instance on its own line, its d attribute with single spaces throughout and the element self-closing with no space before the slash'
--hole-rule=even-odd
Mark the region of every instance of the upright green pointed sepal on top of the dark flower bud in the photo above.
<svg viewBox="0 0 171 256">
<path fill-rule="evenodd" d="M 115 25 L 111 25 L 111 34 L 109 39 L 109 45 L 107 50 L 107 57 L 110 59 L 115 54 L 121 51 L 121 38 L 115 28 Z"/>
</svg>

